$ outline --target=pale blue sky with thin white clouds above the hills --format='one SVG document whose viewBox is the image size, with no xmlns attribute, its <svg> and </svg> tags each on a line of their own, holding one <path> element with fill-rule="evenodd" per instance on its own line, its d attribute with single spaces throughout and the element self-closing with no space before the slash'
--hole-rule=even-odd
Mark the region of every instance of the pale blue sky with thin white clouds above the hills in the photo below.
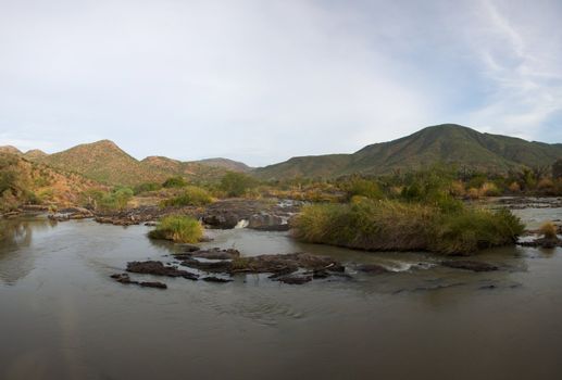
<svg viewBox="0 0 562 380">
<path fill-rule="evenodd" d="M 559 0 L 0 0 L 0 145 L 263 166 L 455 123 L 562 142 Z"/>
</svg>

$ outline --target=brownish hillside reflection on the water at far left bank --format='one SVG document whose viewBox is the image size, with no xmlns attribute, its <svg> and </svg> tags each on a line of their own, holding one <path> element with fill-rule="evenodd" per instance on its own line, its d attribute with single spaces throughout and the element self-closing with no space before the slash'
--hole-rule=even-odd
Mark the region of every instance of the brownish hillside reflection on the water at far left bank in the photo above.
<svg viewBox="0 0 562 380">
<path fill-rule="evenodd" d="M 13 284 L 34 269 L 36 252 L 29 250 L 34 231 L 57 226 L 47 218 L 18 218 L 1 220 L 0 280 Z"/>
</svg>

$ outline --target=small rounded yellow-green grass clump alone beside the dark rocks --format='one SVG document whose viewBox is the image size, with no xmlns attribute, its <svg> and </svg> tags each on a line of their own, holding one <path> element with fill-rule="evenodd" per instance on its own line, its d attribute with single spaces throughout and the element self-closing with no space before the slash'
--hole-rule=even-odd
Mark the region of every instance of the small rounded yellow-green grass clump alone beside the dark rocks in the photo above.
<svg viewBox="0 0 562 380">
<path fill-rule="evenodd" d="M 148 236 L 151 239 L 172 240 L 176 243 L 197 243 L 203 237 L 203 226 L 191 217 L 171 215 L 160 220 Z"/>
</svg>

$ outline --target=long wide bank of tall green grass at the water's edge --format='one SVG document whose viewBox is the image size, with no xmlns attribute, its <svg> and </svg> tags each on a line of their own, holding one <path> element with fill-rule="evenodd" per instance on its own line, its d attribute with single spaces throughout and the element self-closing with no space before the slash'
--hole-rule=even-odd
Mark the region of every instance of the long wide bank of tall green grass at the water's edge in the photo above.
<svg viewBox="0 0 562 380">
<path fill-rule="evenodd" d="M 350 204 L 305 206 L 295 236 L 308 242 L 372 251 L 432 251 L 469 254 L 508 244 L 523 232 L 509 211 L 488 212 L 354 198 Z"/>
</svg>

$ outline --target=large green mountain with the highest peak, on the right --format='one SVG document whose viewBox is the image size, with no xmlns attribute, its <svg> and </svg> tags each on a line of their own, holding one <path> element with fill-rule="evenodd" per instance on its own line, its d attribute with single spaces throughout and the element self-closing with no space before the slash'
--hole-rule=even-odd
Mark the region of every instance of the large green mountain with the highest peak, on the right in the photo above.
<svg viewBox="0 0 562 380">
<path fill-rule="evenodd" d="M 262 179 L 337 177 L 353 173 L 383 175 L 436 163 L 505 173 L 523 166 L 551 165 L 559 157 L 562 157 L 562 144 L 529 142 L 444 124 L 394 141 L 371 144 L 352 154 L 294 157 L 254 173 Z"/>
</svg>

